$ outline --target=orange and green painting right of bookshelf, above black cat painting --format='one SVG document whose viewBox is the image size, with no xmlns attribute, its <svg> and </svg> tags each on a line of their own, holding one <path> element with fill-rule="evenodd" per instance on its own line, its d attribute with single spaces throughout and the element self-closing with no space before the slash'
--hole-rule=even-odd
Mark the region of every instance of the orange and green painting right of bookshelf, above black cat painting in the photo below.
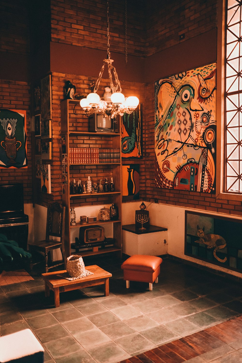
<svg viewBox="0 0 242 363">
<path fill-rule="evenodd" d="M 121 156 L 126 159 L 143 157 L 142 105 L 121 118 Z"/>
</svg>

